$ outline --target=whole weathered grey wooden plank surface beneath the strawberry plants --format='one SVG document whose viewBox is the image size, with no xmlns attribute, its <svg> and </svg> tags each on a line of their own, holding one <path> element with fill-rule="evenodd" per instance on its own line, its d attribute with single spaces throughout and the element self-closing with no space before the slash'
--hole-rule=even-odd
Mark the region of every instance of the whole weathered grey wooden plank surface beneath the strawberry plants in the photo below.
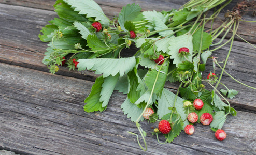
<svg viewBox="0 0 256 155">
<path fill-rule="evenodd" d="M 230 89 L 239 90 L 239 94 L 230 100 L 238 115 L 227 119 L 223 129 L 228 136 L 223 142 L 216 141 L 209 127 L 195 125 L 193 136 L 182 132 L 173 143 L 160 145 L 155 136 L 150 135 L 151 127 L 157 125 L 143 122 L 149 148 L 144 152 L 136 138 L 126 132 L 138 133 L 135 124 L 120 109 L 125 95 L 118 92 L 112 95 L 103 113 L 84 113 L 83 100 L 98 75 L 68 71 L 65 67 L 60 67 L 58 75 L 51 75 L 41 63 L 46 43 L 37 35 L 56 17 L 54 2 L 0 0 L 0 149 L 20 154 L 169 154 L 172 151 L 179 154 L 255 154 L 256 91 L 237 84 L 226 75 L 223 83 Z M 161 11 L 179 8 L 185 1 L 96 2 L 111 18 L 128 3 L 140 4 L 143 10 Z M 245 23 L 239 33 L 245 38 L 249 36 L 246 39 L 255 43 L 255 29 L 256 24 Z M 227 51 L 228 48 L 221 48 L 214 56 L 222 61 Z M 255 87 L 255 58 L 255 49 L 237 39 L 226 71 Z M 211 71 L 210 65 L 209 60 L 207 72 Z M 177 89 L 176 84 L 166 84 L 166 87 Z"/>
</svg>

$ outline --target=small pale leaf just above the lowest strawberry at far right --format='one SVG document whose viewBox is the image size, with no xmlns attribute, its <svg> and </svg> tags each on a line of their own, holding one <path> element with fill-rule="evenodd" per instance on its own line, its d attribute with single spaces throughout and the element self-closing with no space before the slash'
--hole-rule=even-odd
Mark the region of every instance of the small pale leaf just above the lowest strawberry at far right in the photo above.
<svg viewBox="0 0 256 155">
<path fill-rule="evenodd" d="M 210 123 L 211 128 L 221 129 L 226 121 L 226 115 L 224 111 L 215 112 L 213 120 Z"/>
</svg>

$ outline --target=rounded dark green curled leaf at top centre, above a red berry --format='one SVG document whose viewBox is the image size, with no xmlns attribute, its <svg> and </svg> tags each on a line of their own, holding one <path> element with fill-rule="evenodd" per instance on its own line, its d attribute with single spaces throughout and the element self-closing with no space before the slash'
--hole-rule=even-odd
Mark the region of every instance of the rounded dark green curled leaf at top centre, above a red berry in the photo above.
<svg viewBox="0 0 256 155">
<path fill-rule="evenodd" d="M 127 4 L 122 8 L 121 12 L 119 13 L 118 23 L 125 32 L 129 31 L 124 27 L 125 21 L 133 21 L 140 14 L 140 10 L 140 6 L 135 5 L 135 3 Z"/>
</svg>

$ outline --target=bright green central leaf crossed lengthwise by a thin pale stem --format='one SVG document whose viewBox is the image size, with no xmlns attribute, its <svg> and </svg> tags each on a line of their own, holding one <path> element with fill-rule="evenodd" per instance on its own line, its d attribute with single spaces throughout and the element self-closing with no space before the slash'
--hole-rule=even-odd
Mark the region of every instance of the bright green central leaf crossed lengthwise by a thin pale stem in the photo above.
<svg viewBox="0 0 256 155">
<path fill-rule="evenodd" d="M 152 69 L 145 76 L 146 85 L 148 86 L 149 90 L 152 90 L 154 86 L 153 92 L 155 94 L 162 94 L 162 90 L 164 88 L 164 84 L 165 84 L 167 73 L 168 73 L 168 67 L 169 65 L 163 66 L 159 72 L 159 75 L 157 70 Z M 156 78 L 157 78 L 157 82 L 154 85 Z"/>
</svg>

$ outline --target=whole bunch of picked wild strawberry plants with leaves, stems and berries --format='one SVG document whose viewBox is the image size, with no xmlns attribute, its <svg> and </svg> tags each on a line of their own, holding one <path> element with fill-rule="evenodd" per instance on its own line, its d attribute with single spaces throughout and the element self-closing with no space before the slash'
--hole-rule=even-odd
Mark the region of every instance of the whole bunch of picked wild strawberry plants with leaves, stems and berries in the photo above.
<svg viewBox="0 0 256 155">
<path fill-rule="evenodd" d="M 121 108 L 136 123 L 144 142 L 146 133 L 139 125 L 144 119 L 150 123 L 160 121 L 153 134 L 158 138 L 162 133 L 165 143 L 172 142 L 182 130 L 193 134 L 192 124 L 196 122 L 209 125 L 218 131 L 216 137 L 224 139 L 226 135 L 220 129 L 226 116 L 236 116 L 225 96 L 233 98 L 238 91 L 217 87 L 222 84 L 241 16 L 229 12 L 216 29 L 206 31 L 205 24 L 214 22 L 230 2 L 191 0 L 180 9 L 162 12 L 141 12 L 139 5 L 128 4 L 118 18 L 110 20 L 94 1 L 57 0 L 54 7 L 59 18 L 49 21 L 39 35 L 41 41 L 49 42 L 43 63 L 51 73 L 64 65 L 69 70 L 101 74 L 84 100 L 86 112 L 104 111 L 114 90 L 127 94 Z M 223 32 L 221 40 L 214 43 Z M 222 43 L 229 32 L 232 37 Z M 221 67 L 211 54 L 229 42 L 230 50 Z M 122 50 L 129 49 L 132 43 L 138 51 L 131 57 L 121 57 Z M 208 59 L 214 66 L 207 77 L 202 77 Z M 222 69 L 220 75 L 215 74 L 215 65 Z M 176 94 L 164 88 L 167 81 L 180 82 Z"/>
</svg>

